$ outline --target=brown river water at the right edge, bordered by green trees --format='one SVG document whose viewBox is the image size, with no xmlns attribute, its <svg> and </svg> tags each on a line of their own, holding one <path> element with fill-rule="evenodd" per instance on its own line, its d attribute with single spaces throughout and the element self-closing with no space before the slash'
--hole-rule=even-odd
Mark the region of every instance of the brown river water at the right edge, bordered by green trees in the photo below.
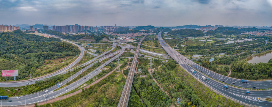
<svg viewBox="0 0 272 107">
<path fill-rule="evenodd" d="M 272 58 L 272 51 L 266 52 L 264 54 L 251 56 L 248 59 L 246 59 L 246 62 L 256 63 L 256 64 L 259 63 L 259 62 L 267 63 L 271 58 Z"/>
</svg>

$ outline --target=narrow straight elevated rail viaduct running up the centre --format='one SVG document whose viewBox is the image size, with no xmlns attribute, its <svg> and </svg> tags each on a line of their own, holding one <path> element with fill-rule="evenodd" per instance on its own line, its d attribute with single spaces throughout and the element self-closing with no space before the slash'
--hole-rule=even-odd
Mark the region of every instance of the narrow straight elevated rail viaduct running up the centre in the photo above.
<svg viewBox="0 0 272 107">
<path fill-rule="evenodd" d="M 144 40 L 144 38 L 147 35 L 145 35 L 141 39 L 141 41 L 139 42 L 139 44 L 138 44 L 138 46 L 136 48 L 136 52 L 135 52 L 134 58 L 132 60 L 131 67 L 129 69 L 127 80 L 125 82 L 125 86 L 123 88 L 122 95 L 120 97 L 120 100 L 119 100 L 119 103 L 118 103 L 117 107 L 127 107 L 128 106 L 128 100 L 129 100 L 129 95 L 130 95 L 131 86 L 132 86 L 132 82 L 133 82 L 133 77 L 134 77 L 136 62 L 137 62 L 137 58 L 138 58 L 138 54 L 139 54 L 139 49 L 140 49 L 140 46 L 141 46 L 141 42 Z"/>
</svg>

